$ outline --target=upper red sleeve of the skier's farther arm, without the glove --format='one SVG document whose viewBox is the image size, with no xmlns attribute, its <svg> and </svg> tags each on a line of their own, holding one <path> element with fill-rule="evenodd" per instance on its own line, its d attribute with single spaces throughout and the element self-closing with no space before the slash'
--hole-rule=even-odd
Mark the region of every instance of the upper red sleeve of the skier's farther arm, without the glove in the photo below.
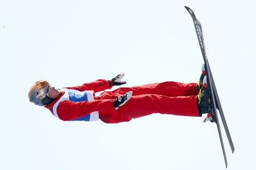
<svg viewBox="0 0 256 170">
<path fill-rule="evenodd" d="M 99 92 L 99 91 L 104 91 L 106 89 L 112 88 L 112 83 L 110 83 L 110 80 L 98 79 L 94 82 L 84 83 L 81 86 L 65 87 L 65 88 L 71 88 L 79 91 L 93 90 L 94 92 Z"/>
</svg>

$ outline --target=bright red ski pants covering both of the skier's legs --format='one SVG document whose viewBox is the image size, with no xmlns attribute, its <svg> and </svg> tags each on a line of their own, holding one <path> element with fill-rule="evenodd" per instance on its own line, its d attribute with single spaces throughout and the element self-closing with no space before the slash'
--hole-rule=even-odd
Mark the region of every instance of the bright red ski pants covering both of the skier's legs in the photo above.
<svg viewBox="0 0 256 170">
<path fill-rule="evenodd" d="M 121 87 L 103 92 L 96 100 L 117 99 L 133 91 L 133 96 L 115 111 L 100 111 L 100 119 L 106 123 L 130 121 L 132 118 L 152 113 L 179 116 L 199 116 L 197 108 L 197 83 L 163 82 L 143 86 Z"/>
</svg>

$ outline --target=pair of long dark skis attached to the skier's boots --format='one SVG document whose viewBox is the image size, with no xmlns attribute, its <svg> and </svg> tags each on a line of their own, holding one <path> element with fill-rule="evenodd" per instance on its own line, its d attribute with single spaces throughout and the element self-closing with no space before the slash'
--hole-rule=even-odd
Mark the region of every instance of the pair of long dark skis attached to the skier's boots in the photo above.
<svg viewBox="0 0 256 170">
<path fill-rule="evenodd" d="M 197 39 L 199 41 L 201 53 L 202 53 L 203 58 L 204 58 L 204 63 L 205 63 L 205 66 L 206 66 L 205 69 L 206 69 L 207 75 L 208 75 L 207 76 L 207 82 L 209 84 L 210 94 L 211 94 L 212 100 L 213 100 L 213 111 L 212 111 L 213 112 L 212 113 L 213 114 L 213 120 L 214 120 L 214 122 L 216 122 L 216 125 L 217 125 L 218 134 L 219 134 L 219 137 L 220 137 L 220 142 L 221 142 L 221 147 L 222 147 L 222 152 L 223 152 L 223 155 L 224 155 L 224 160 L 225 160 L 225 164 L 226 164 L 226 168 L 227 168 L 228 167 L 228 161 L 226 159 L 226 153 L 225 153 L 224 143 L 223 143 L 223 140 L 222 140 L 222 134 L 221 134 L 221 129 L 220 129 L 220 122 L 218 121 L 217 109 L 220 113 L 222 124 L 224 125 L 224 129 L 225 129 L 226 136 L 228 138 L 229 145 L 230 145 L 230 148 L 232 150 L 232 153 L 234 152 L 234 145 L 233 145 L 230 133 L 229 133 L 228 125 L 226 124 L 224 113 L 222 111 L 220 99 L 218 97 L 218 93 L 217 93 L 216 86 L 215 86 L 215 83 L 214 83 L 214 80 L 213 80 L 212 72 L 210 71 L 208 58 L 207 58 L 207 55 L 206 55 L 206 52 L 205 52 L 204 37 L 203 37 L 203 31 L 202 31 L 201 24 L 200 24 L 199 20 L 196 19 L 196 16 L 195 16 L 194 12 L 191 10 L 191 8 L 189 8 L 187 6 L 185 6 L 185 8 L 187 9 L 187 11 L 189 12 L 189 14 L 191 15 L 191 17 L 193 19 L 193 23 L 194 23 L 195 29 L 196 29 Z"/>
</svg>

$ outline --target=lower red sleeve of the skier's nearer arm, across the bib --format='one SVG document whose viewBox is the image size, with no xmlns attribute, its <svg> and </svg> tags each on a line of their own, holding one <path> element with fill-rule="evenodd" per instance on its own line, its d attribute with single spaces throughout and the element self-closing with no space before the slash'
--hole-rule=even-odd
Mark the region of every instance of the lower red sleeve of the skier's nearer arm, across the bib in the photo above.
<svg viewBox="0 0 256 170">
<path fill-rule="evenodd" d="M 73 102 L 69 100 L 61 101 L 57 107 L 57 114 L 61 120 L 75 120 L 84 117 L 94 111 L 114 111 L 114 100 L 103 99 L 93 101 Z"/>
</svg>

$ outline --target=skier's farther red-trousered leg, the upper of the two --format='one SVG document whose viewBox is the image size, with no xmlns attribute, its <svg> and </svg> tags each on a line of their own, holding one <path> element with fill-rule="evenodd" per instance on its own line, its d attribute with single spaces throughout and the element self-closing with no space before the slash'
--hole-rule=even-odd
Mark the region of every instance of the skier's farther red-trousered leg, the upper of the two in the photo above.
<svg viewBox="0 0 256 170">
<path fill-rule="evenodd" d="M 162 82 L 145 84 L 134 87 L 121 87 L 115 92 L 117 94 L 125 94 L 128 91 L 133 91 L 133 96 L 144 94 L 165 95 L 170 97 L 175 96 L 192 96 L 198 94 L 197 83 L 180 83 L 180 82 Z"/>
</svg>

